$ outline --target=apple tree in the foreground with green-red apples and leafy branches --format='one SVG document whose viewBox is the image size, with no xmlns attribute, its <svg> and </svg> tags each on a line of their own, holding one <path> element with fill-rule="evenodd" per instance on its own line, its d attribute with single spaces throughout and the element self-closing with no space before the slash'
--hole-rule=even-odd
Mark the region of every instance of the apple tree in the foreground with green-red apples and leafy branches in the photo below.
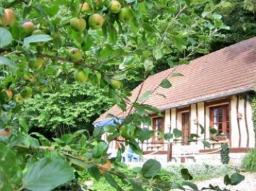
<svg viewBox="0 0 256 191">
<path fill-rule="evenodd" d="M 142 154 L 136 140 L 150 137 L 143 136 L 140 124 L 149 122 L 147 112 L 159 110 L 131 102 L 122 81 L 131 73 L 147 78 L 163 58 L 171 65 L 172 57 L 165 57 L 170 53 L 182 55 L 179 62 L 187 63 L 191 55 L 207 52 L 205 43 L 228 29 L 215 13 L 227 5 L 211 0 L 1 0 L 0 190 L 53 190 L 73 180 L 79 170 L 88 170 L 95 180 L 105 178 L 117 190 L 122 188 L 113 176 L 133 190 L 183 189 L 176 182 L 158 181 L 161 165 L 156 160 L 145 162 L 135 177 L 122 173 L 123 146 L 116 158 L 109 158 L 101 135 L 107 132 L 111 142 L 122 126 L 132 129 L 123 143 Z M 73 81 L 105 89 L 113 104 L 134 109 L 127 111 L 122 125 L 95 128 L 93 134 L 83 129 L 51 139 L 29 134 L 29 120 L 21 112 L 24 102 L 62 91 Z M 169 87 L 167 80 L 164 84 Z M 185 180 L 191 177 L 187 170 L 182 173 Z M 228 184 L 242 179 L 228 178 Z M 197 188 L 190 182 L 184 185 Z"/>
</svg>

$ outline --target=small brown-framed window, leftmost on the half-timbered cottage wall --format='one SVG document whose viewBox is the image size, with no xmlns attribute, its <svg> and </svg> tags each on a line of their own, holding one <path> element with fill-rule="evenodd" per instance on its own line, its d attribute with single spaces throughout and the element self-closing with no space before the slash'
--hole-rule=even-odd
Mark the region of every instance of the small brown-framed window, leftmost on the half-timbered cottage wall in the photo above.
<svg viewBox="0 0 256 191">
<path fill-rule="evenodd" d="M 152 118 L 152 128 L 153 128 L 153 137 L 152 137 L 152 141 L 153 142 L 163 142 L 163 138 L 159 137 L 159 134 L 161 132 L 164 132 L 164 121 L 163 121 L 163 117 L 155 117 Z"/>
</svg>

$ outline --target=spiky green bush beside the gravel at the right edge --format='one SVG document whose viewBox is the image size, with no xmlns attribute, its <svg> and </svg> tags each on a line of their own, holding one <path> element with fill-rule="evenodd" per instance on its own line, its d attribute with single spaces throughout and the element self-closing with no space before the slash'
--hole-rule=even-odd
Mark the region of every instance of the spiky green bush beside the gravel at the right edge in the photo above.
<svg viewBox="0 0 256 191">
<path fill-rule="evenodd" d="M 251 149 L 243 158 L 242 167 L 248 172 L 256 172 L 256 148 Z"/>
</svg>

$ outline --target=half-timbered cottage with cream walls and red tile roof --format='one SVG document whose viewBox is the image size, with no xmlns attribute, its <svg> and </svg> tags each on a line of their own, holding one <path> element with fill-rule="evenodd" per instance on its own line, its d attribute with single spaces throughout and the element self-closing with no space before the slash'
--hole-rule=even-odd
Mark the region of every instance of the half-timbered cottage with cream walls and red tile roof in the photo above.
<svg viewBox="0 0 256 191">
<path fill-rule="evenodd" d="M 183 77 L 171 77 L 172 73 L 181 73 Z M 217 162 L 220 161 L 219 148 L 227 142 L 231 162 L 241 162 L 249 148 L 255 146 L 250 100 L 255 95 L 256 37 L 195 59 L 189 65 L 152 75 L 142 89 L 141 84 L 131 92 L 130 100 L 135 100 L 140 89 L 141 95 L 152 91 L 165 77 L 172 87 L 159 87 L 145 101 L 163 113 L 163 116 L 150 114 L 152 125 L 147 128 L 155 133 L 151 140 L 140 143 L 145 157 L 162 162 Z M 127 112 L 113 106 L 97 118 L 95 124 L 109 120 L 107 114 L 122 119 Z M 203 134 L 199 124 L 205 127 Z M 190 134 L 199 134 L 198 140 L 208 140 L 212 136 L 210 128 L 225 136 L 223 140 L 209 140 L 211 148 L 205 147 L 202 141 L 169 144 L 159 139 L 157 130 L 167 133 L 175 128 L 182 131 L 184 141 Z M 115 144 L 112 145 L 115 149 Z"/>
</svg>

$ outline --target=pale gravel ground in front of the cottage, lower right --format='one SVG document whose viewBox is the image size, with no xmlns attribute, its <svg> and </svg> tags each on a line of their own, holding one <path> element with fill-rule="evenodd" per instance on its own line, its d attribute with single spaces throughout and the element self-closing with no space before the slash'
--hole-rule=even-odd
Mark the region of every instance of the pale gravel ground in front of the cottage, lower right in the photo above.
<svg viewBox="0 0 256 191">
<path fill-rule="evenodd" d="M 225 184 L 223 183 L 223 177 L 221 178 L 213 178 L 211 180 L 204 180 L 201 182 L 197 182 L 197 186 L 199 189 L 203 187 L 208 187 L 209 184 L 213 186 L 219 186 L 220 188 L 227 188 L 228 190 L 232 191 L 254 191 L 256 190 L 256 173 L 248 173 L 248 172 L 242 172 L 245 176 L 245 180 L 243 180 L 240 184 L 237 186 L 227 186 L 225 187 Z"/>
</svg>

